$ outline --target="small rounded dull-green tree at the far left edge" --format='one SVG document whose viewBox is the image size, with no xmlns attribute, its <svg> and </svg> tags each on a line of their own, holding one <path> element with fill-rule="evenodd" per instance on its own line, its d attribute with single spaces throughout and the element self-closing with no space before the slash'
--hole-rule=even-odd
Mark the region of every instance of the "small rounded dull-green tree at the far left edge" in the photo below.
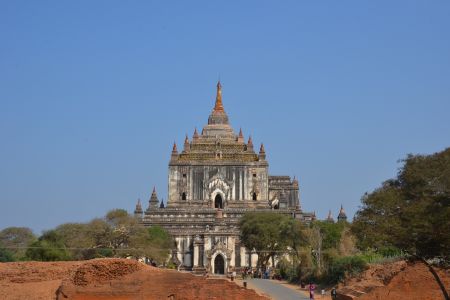
<svg viewBox="0 0 450 300">
<path fill-rule="evenodd" d="M 4 247 L 14 260 L 23 259 L 26 247 L 36 241 L 36 236 L 27 227 L 8 227 L 0 231 L 0 247 Z"/>
</svg>

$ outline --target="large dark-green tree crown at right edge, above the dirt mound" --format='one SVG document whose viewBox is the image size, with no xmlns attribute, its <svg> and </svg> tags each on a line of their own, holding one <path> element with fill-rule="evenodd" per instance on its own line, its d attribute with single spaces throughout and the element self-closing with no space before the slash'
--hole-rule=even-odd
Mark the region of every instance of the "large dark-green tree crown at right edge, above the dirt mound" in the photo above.
<svg viewBox="0 0 450 300">
<path fill-rule="evenodd" d="M 362 199 L 352 231 L 358 246 L 394 246 L 450 261 L 450 148 L 409 155 L 396 179 Z"/>
</svg>

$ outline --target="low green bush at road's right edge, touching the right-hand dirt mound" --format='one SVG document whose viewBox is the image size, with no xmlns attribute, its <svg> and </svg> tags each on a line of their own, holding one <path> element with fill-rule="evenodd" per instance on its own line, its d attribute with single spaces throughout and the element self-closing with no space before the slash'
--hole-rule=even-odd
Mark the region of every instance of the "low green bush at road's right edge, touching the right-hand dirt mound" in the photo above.
<svg viewBox="0 0 450 300">
<path fill-rule="evenodd" d="M 346 256 L 336 259 L 330 266 L 327 275 L 329 283 L 337 283 L 345 279 L 346 276 L 355 276 L 367 268 L 367 261 L 364 257 Z"/>
</svg>

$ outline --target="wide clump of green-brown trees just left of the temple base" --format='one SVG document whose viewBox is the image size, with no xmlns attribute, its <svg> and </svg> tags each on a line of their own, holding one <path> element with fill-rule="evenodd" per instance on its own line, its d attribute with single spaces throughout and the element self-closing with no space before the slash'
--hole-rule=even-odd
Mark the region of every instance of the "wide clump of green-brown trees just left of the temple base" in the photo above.
<svg viewBox="0 0 450 300">
<path fill-rule="evenodd" d="M 32 260 L 83 260 L 98 257 L 149 257 L 164 263 L 172 238 L 161 227 L 145 228 L 123 209 L 89 223 L 66 223 L 45 232 L 27 250 Z"/>
</svg>

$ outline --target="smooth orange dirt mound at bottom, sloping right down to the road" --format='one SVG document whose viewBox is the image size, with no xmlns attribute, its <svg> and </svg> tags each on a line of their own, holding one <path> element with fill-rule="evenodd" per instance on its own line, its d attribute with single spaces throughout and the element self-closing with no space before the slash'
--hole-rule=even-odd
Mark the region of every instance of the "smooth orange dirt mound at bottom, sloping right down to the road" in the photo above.
<svg viewBox="0 0 450 300">
<path fill-rule="evenodd" d="M 144 267 L 116 279 L 75 285 L 64 281 L 57 299 L 266 299 L 225 279 Z M 172 298 L 171 298 L 172 297 Z"/>
</svg>

